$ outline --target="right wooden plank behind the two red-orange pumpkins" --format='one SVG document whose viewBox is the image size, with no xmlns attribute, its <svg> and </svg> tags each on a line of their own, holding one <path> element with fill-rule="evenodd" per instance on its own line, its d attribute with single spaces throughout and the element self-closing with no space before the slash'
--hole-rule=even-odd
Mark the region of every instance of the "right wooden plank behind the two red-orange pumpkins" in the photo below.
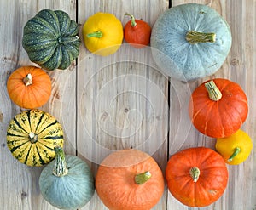
<svg viewBox="0 0 256 210">
<path fill-rule="evenodd" d="M 175 0 L 172 1 L 172 6 L 176 6 L 182 3 L 203 3 L 216 9 L 218 13 L 222 14 L 225 20 L 230 24 L 233 42 L 230 54 L 221 69 L 212 77 L 206 77 L 196 82 L 190 82 L 189 88 L 192 92 L 201 82 L 206 81 L 209 78 L 223 77 L 228 78 L 231 81 L 237 82 L 241 85 L 241 88 L 245 91 L 249 103 L 249 115 L 247 121 L 242 126 L 242 129 L 246 131 L 253 139 L 255 145 L 255 97 L 253 91 L 255 90 L 255 71 L 253 68 L 256 66 L 255 61 L 255 1 L 186 1 Z M 171 82 L 172 84 L 172 82 Z M 188 88 L 188 90 L 189 90 Z M 177 97 L 175 91 L 171 88 L 171 99 Z M 185 98 L 187 93 L 183 91 L 179 92 L 181 98 Z M 183 101 L 179 101 L 183 103 Z M 172 107 L 173 106 L 173 107 Z M 175 128 L 173 133 L 170 132 L 170 155 L 177 150 L 183 150 L 187 147 L 196 145 L 204 145 L 214 149 L 215 139 L 207 138 L 204 135 L 196 132 L 195 128 L 191 125 L 186 140 L 183 139 L 183 144 L 180 142 L 172 142 L 175 133 L 177 133 L 177 111 L 179 106 L 177 103 L 171 102 L 170 111 L 170 125 L 171 128 Z M 173 120 L 174 118 L 174 120 Z M 178 117 L 180 119 L 180 117 Z M 189 122 L 188 122 L 189 123 Z M 189 126 L 186 124 L 187 128 Z M 183 134 L 183 133 L 182 133 Z M 179 137 L 176 136 L 178 139 Z M 173 150 L 174 149 L 174 150 Z M 230 179 L 227 189 L 218 201 L 210 205 L 209 207 L 203 207 L 202 209 L 254 209 L 256 207 L 256 194 L 255 188 L 255 175 L 256 170 L 253 167 L 255 165 L 255 149 L 252 151 L 251 156 L 246 162 L 243 162 L 239 166 L 228 166 Z M 253 188 L 254 187 L 254 188 Z M 172 195 L 168 195 L 168 209 L 190 209 L 183 206 L 180 202 L 176 201 Z"/>
</svg>

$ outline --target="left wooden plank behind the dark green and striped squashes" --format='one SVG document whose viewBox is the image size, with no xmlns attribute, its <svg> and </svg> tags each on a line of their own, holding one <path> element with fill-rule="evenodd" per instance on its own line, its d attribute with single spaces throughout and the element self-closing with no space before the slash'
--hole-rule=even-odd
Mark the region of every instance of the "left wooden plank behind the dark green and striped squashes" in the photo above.
<svg viewBox="0 0 256 210">
<path fill-rule="evenodd" d="M 23 109 L 14 105 L 7 94 L 6 82 L 12 71 L 22 65 L 33 64 L 22 48 L 21 40 L 23 34 L 23 26 L 26 21 L 32 18 L 41 9 L 62 9 L 66 11 L 71 18 L 76 20 L 76 4 L 74 1 L 1 1 L 1 23 L 0 23 L 0 44 L 1 44 L 1 72 L 0 72 L 0 203 L 1 209 L 55 209 L 51 207 L 47 201 L 44 201 L 40 195 L 38 187 L 38 178 L 43 167 L 26 167 L 16 161 L 6 146 L 6 130 L 9 121 Z M 71 70 L 70 70 L 71 71 Z M 69 71 L 49 72 L 49 76 L 53 83 L 53 92 L 49 102 L 40 107 L 44 111 L 48 111 L 55 116 L 61 123 L 67 120 L 68 124 L 65 128 L 68 131 L 68 142 L 75 141 L 75 116 L 62 116 L 61 107 L 67 108 L 75 112 L 75 78 L 73 81 L 69 79 Z M 69 87 L 67 92 L 63 92 L 63 86 Z M 68 98 L 68 100 L 67 100 Z M 66 107 L 65 107 L 66 108 Z M 69 112 L 72 114 L 72 112 Z M 65 118 L 65 117 L 68 117 Z M 67 142 L 67 143 L 68 143 Z M 74 145 L 74 144 L 73 144 Z M 75 154 L 75 149 L 71 144 L 66 144 L 65 149 L 70 154 Z"/>
</svg>

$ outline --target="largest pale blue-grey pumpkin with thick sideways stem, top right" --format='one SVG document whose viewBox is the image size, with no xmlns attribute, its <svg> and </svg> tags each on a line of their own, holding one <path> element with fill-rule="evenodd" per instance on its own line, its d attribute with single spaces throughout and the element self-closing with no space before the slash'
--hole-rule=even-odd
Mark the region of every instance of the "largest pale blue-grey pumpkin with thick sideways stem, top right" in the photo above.
<svg viewBox="0 0 256 210">
<path fill-rule="evenodd" d="M 150 40 L 160 71 L 185 82 L 218 71 L 231 43 L 230 26 L 224 18 L 196 3 L 166 9 L 156 20 Z"/>
</svg>

